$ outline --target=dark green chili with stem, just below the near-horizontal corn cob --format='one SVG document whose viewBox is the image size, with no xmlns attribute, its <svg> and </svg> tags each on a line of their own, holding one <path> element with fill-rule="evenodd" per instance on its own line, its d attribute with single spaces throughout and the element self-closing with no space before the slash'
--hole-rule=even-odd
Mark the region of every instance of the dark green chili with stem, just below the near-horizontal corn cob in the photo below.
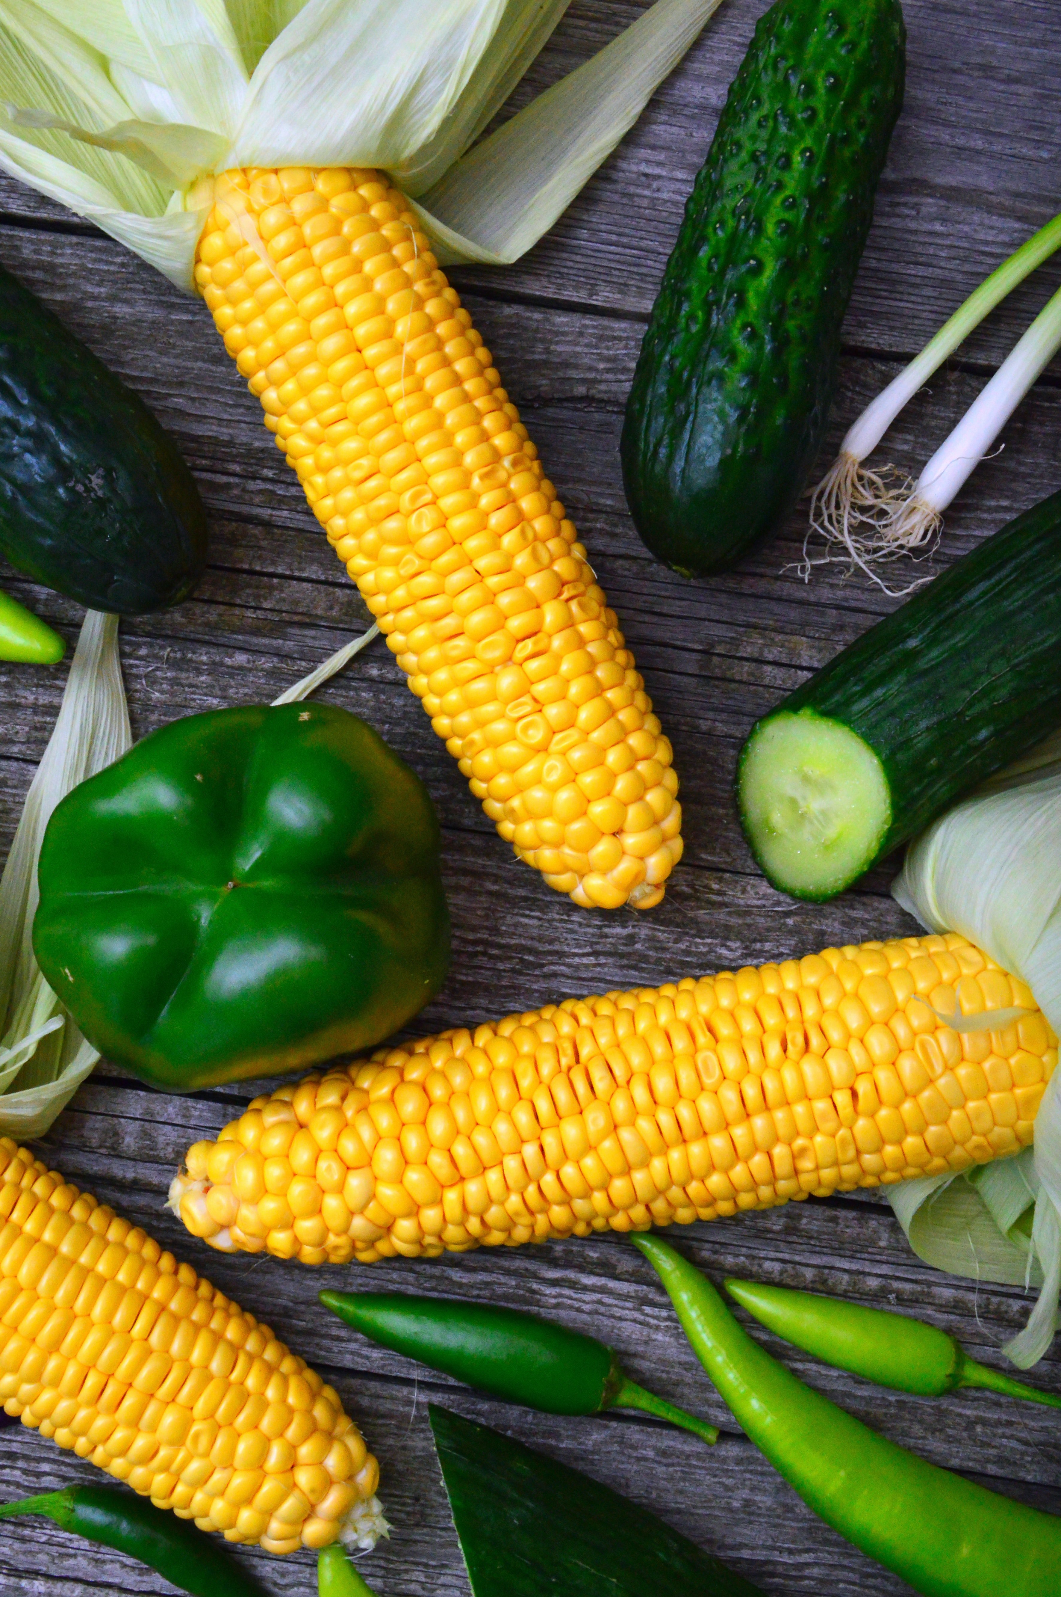
<svg viewBox="0 0 1061 1597">
<path fill-rule="evenodd" d="M 629 1380 L 603 1341 L 549 1319 L 404 1292 L 322 1292 L 321 1302 L 372 1341 L 493 1397 L 544 1413 L 643 1409 L 704 1442 L 718 1440 L 713 1425 Z"/>
</svg>

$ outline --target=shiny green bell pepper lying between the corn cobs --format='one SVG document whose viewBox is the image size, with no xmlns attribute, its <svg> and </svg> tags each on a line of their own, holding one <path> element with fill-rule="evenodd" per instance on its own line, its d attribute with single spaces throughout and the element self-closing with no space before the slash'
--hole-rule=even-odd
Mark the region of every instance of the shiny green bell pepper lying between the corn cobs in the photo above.
<svg viewBox="0 0 1061 1597">
<path fill-rule="evenodd" d="M 176 720 L 56 806 L 34 950 L 88 1040 L 168 1091 L 372 1048 L 448 968 L 431 798 L 330 704 Z"/>
</svg>

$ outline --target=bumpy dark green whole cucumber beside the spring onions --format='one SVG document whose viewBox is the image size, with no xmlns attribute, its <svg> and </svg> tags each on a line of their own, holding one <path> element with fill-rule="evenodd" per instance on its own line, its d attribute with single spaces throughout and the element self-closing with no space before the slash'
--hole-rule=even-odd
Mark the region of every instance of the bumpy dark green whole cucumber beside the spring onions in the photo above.
<svg viewBox="0 0 1061 1597">
<path fill-rule="evenodd" d="M 637 530 L 683 577 L 796 503 L 903 104 L 898 0 L 777 0 L 686 206 L 622 430 Z"/>
</svg>

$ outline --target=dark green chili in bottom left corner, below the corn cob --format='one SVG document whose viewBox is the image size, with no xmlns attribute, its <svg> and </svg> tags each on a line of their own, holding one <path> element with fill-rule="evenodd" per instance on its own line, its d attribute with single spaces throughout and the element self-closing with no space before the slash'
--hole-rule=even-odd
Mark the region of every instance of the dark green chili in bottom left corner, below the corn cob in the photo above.
<svg viewBox="0 0 1061 1597">
<path fill-rule="evenodd" d="M 120 1487 L 70 1485 L 0 1506 L 0 1519 L 14 1514 L 46 1514 L 62 1530 L 150 1565 L 191 1597 L 265 1597 L 223 1544 Z"/>
</svg>

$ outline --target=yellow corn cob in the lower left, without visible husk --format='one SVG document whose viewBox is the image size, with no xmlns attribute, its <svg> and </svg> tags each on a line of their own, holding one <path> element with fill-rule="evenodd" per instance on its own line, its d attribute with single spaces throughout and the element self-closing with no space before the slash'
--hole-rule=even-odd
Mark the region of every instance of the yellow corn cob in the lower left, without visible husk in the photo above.
<svg viewBox="0 0 1061 1597">
<path fill-rule="evenodd" d="M 228 1541 L 370 1546 L 380 1471 L 316 1370 L 8 1137 L 0 1167 L 6 1412 Z"/>
</svg>

